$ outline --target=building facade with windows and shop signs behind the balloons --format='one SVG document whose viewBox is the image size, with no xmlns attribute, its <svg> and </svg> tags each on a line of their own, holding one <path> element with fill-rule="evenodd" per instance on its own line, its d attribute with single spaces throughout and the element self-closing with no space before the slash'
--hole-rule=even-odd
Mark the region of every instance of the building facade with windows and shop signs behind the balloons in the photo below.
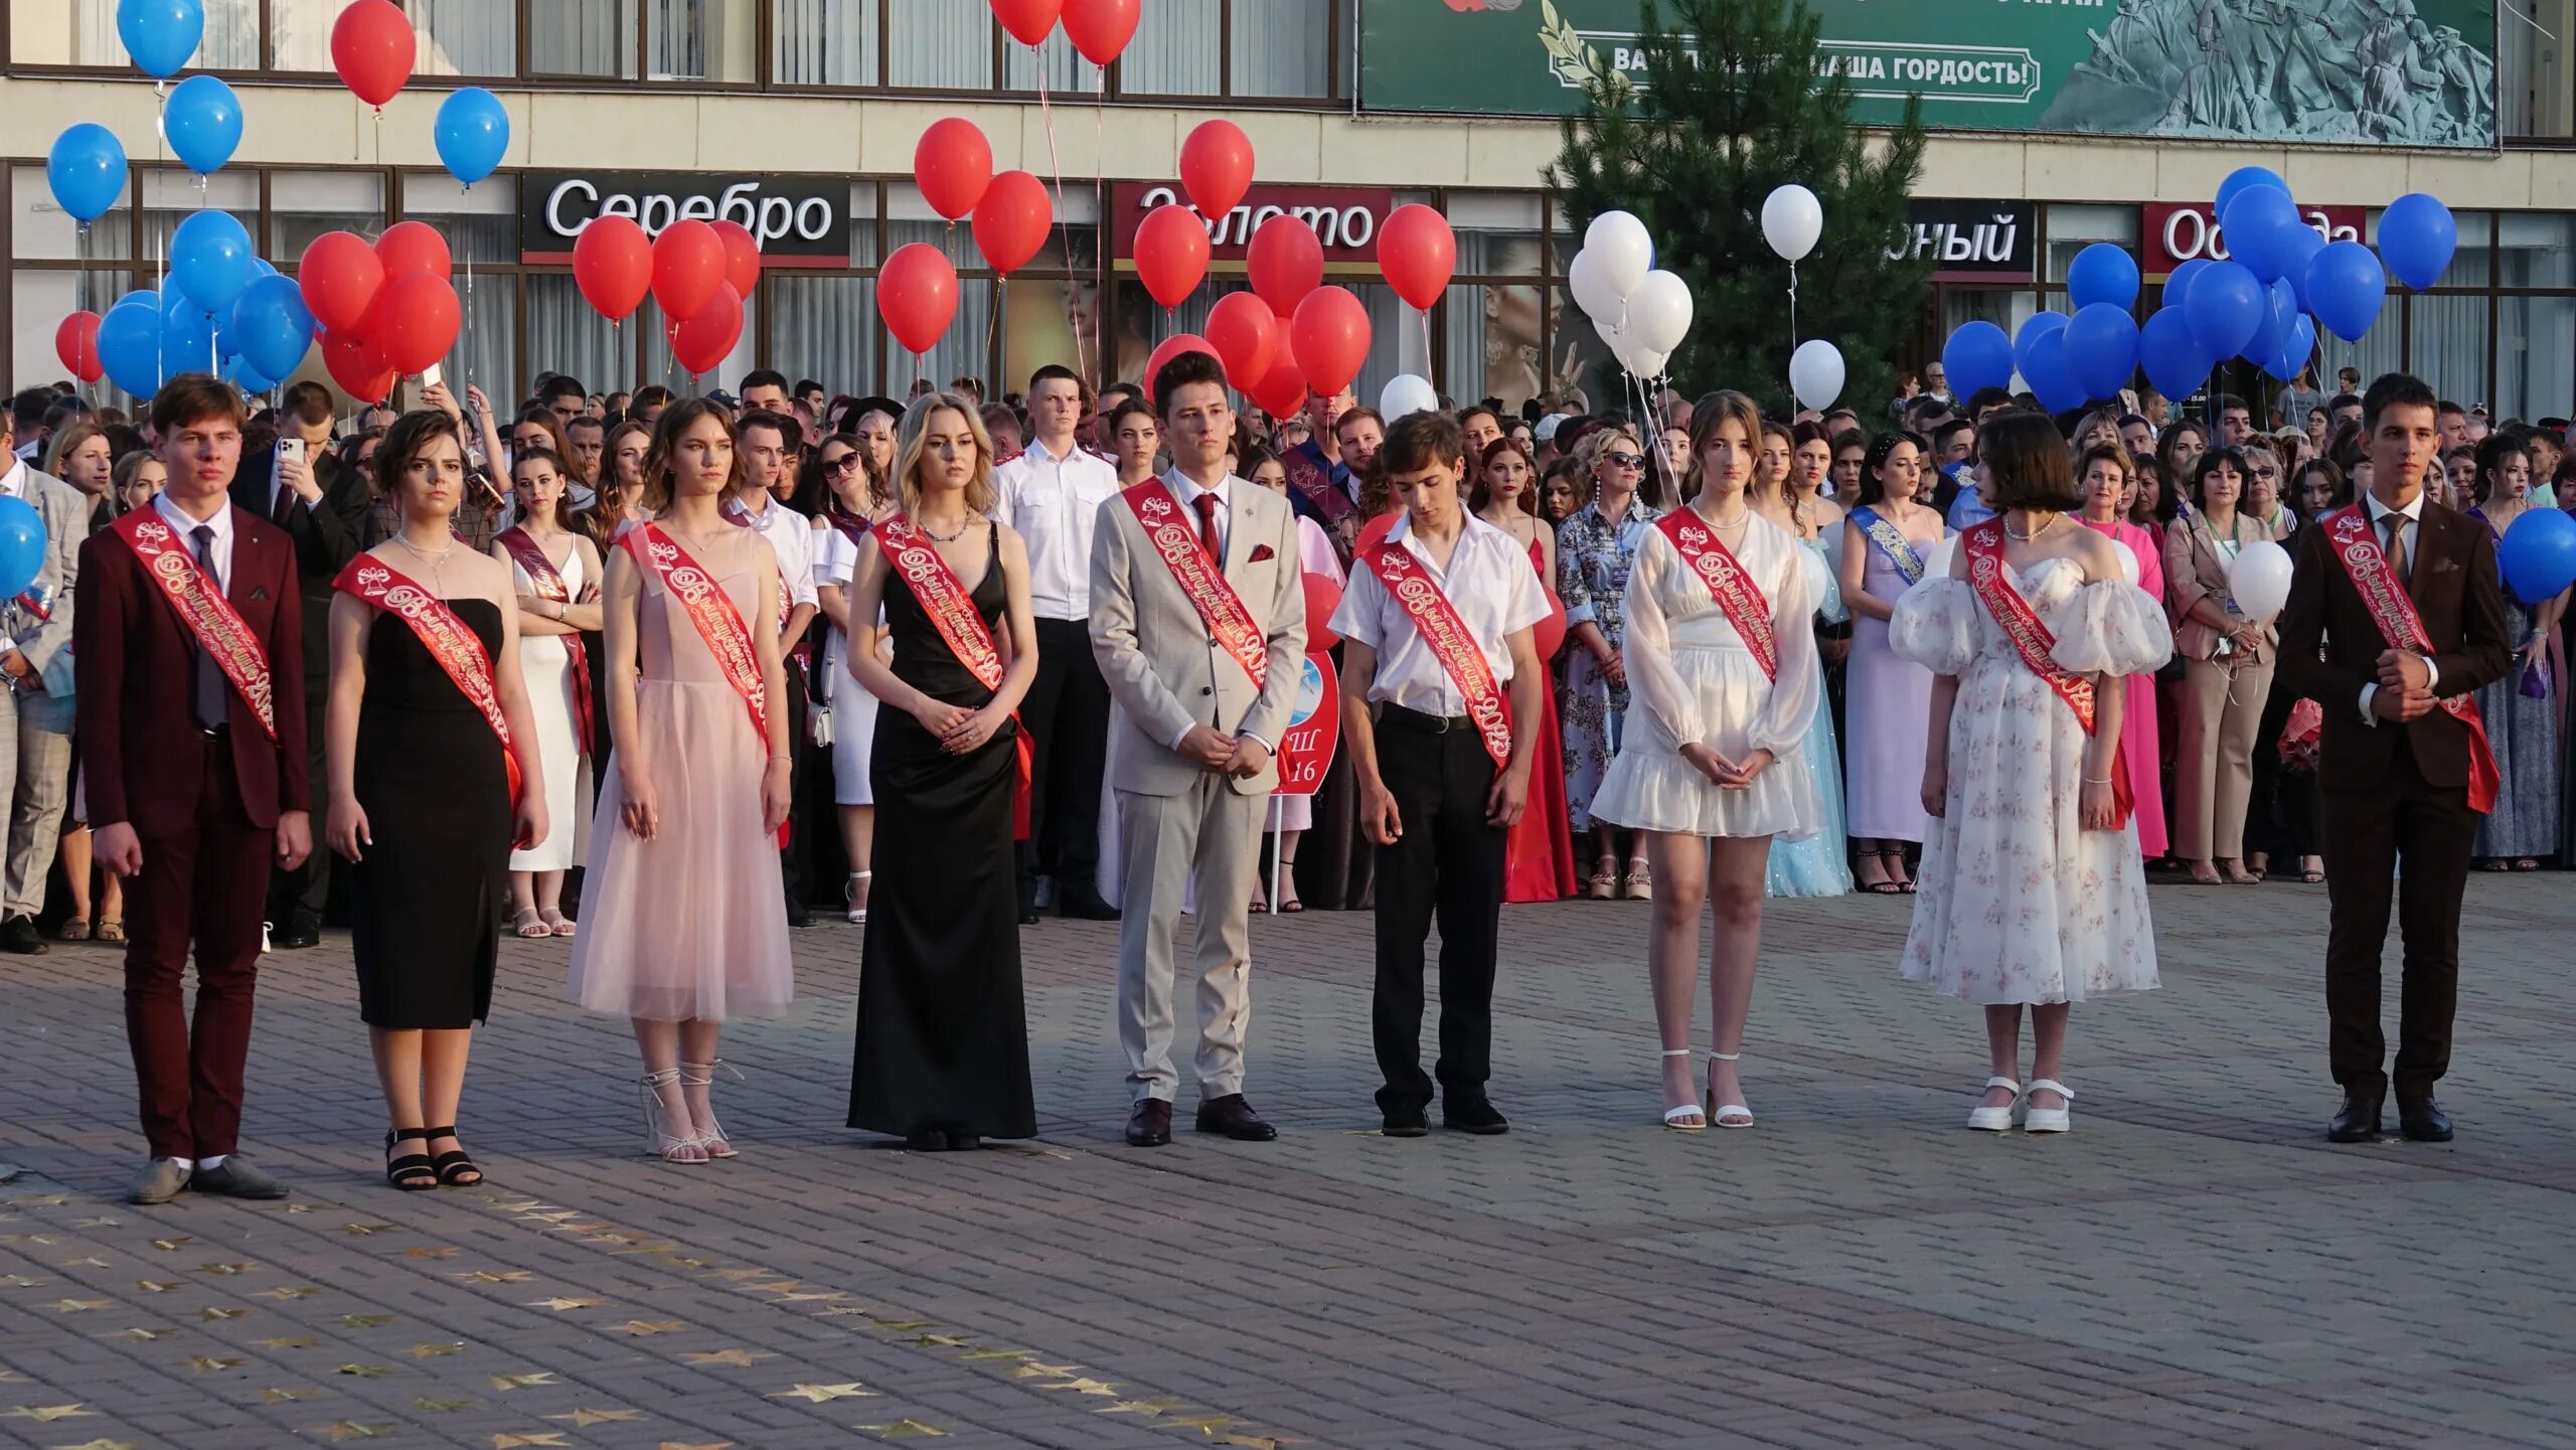
<svg viewBox="0 0 2576 1450">
<path fill-rule="evenodd" d="M 987 0 L 404 8 L 420 64 L 376 116 L 330 72 L 340 0 L 206 0 L 193 70 L 234 85 L 247 131 L 232 165 L 198 180 L 152 155 L 157 95 L 126 64 L 113 0 L 10 0 L 0 332 L 13 386 L 62 376 L 62 317 L 152 286 L 170 232 L 198 206 L 252 224 L 283 270 L 327 229 L 433 221 L 466 299 L 448 373 L 495 399 L 541 368 L 600 391 L 690 381 L 649 301 L 611 327 L 580 299 L 572 234 L 603 211 L 647 227 L 737 216 L 762 234 L 744 340 L 711 384 L 750 366 L 896 397 L 914 379 L 1025 379 L 1038 363 L 1136 376 L 1157 340 L 1195 330 L 1224 288 L 1244 286 L 1244 237 L 1270 209 L 1314 219 L 1332 281 L 1370 306 L 1363 397 L 1417 371 L 1455 397 L 1522 402 L 1571 386 L 1597 355 L 1561 288 L 1577 237 L 1543 185 L 1558 149 L 1546 111 L 1569 103 L 1577 67 L 1631 62 L 1620 26 L 1633 31 L 1633 0 L 1144 0 L 1133 44 L 1105 72 L 1061 33 L 1038 52 L 1010 41 Z M 1937 281 L 1919 317 L 1847 348 L 1919 361 L 1968 317 L 2012 325 L 2056 306 L 2066 265 L 2097 240 L 2133 247 L 2161 278 L 2223 245 L 2210 193 L 2259 162 L 2334 237 L 2372 240 L 2378 209 L 2406 191 L 2460 216 L 2442 283 L 2393 291 L 2370 337 L 2329 343 L 2329 371 L 2409 366 L 2499 415 L 2571 412 L 2576 70 L 2563 36 L 2576 0 L 2117 0 L 2025 13 L 1994 46 L 1868 33 L 1891 8 L 1860 0 L 1819 10 L 1868 106 L 1919 90 L 1937 126 L 1917 227 L 1891 240 L 1929 247 Z M 1991 0 L 1901 10 L 1996 15 Z M 438 167 L 430 142 L 453 85 L 492 88 L 513 118 L 502 170 L 474 188 Z M 912 147 L 940 116 L 976 121 L 997 170 L 1030 170 L 1056 196 L 1054 242 L 1010 278 L 912 185 Z M 1257 188 L 1211 224 L 1208 286 L 1167 314 L 1136 283 L 1131 245 L 1144 211 L 1175 198 L 1180 139 L 1208 116 L 1252 137 Z M 111 126 L 134 162 L 124 203 L 90 229 L 54 206 L 44 175 L 72 121 Z M 1458 232 L 1455 283 L 1430 314 L 1373 265 L 1376 227 L 1409 201 Z M 961 276 L 956 322 L 920 358 L 873 306 L 876 265 L 907 242 L 940 245 Z"/>
</svg>

